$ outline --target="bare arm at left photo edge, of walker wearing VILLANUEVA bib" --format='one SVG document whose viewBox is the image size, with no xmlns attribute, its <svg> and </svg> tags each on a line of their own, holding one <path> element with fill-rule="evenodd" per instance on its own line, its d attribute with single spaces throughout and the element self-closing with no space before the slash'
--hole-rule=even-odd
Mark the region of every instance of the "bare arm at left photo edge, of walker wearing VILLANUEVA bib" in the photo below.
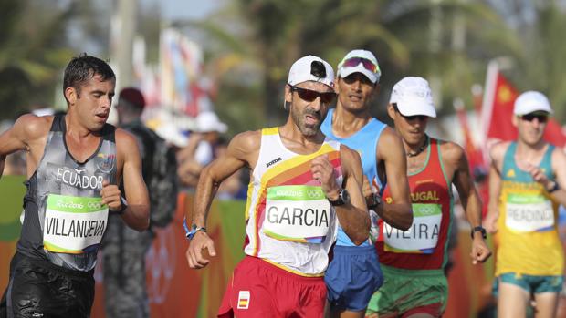
<svg viewBox="0 0 566 318">
<path fill-rule="evenodd" d="M 5 156 L 18 150 L 27 151 L 27 177 L 31 177 L 43 156 L 52 122 L 52 116 L 26 114 L 17 118 L 14 126 L 0 135 L 0 177 L 4 171 Z"/>
</svg>

